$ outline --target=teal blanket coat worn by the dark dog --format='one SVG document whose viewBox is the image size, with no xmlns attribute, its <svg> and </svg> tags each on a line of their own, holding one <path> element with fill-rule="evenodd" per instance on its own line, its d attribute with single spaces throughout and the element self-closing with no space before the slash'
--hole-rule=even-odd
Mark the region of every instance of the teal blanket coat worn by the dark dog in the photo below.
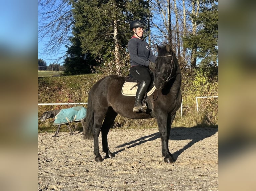
<svg viewBox="0 0 256 191">
<path fill-rule="evenodd" d="M 73 121 L 80 121 L 86 117 L 87 109 L 82 106 L 61 109 L 55 116 L 53 125 L 66 124 Z"/>
</svg>

